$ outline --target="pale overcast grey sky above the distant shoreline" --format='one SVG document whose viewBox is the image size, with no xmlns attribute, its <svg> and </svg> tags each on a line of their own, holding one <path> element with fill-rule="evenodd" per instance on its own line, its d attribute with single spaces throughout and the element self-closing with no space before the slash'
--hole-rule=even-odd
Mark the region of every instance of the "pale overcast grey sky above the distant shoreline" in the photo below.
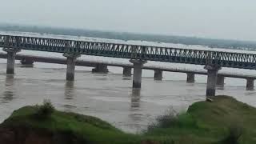
<svg viewBox="0 0 256 144">
<path fill-rule="evenodd" d="M 256 41 L 256 0 L 0 0 L 0 22 Z"/>
</svg>

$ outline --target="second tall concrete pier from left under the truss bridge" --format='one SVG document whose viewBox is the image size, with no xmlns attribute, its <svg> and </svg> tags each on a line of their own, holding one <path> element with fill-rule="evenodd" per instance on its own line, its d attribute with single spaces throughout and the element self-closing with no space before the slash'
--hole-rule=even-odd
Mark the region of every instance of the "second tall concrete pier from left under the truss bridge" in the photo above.
<svg viewBox="0 0 256 144">
<path fill-rule="evenodd" d="M 74 69 L 76 58 L 80 57 L 78 54 L 63 54 L 66 57 L 66 80 L 74 81 Z"/>
</svg>

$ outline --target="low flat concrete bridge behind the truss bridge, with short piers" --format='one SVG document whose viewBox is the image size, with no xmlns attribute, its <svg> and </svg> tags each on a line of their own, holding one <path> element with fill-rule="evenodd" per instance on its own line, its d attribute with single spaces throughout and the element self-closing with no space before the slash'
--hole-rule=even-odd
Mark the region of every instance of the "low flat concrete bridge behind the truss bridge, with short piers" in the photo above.
<svg viewBox="0 0 256 144">
<path fill-rule="evenodd" d="M 0 53 L 0 58 L 7 58 L 7 54 Z M 55 63 L 55 64 L 64 64 L 66 65 L 66 58 L 53 58 L 53 57 L 44 57 L 44 56 L 33 56 L 27 54 L 17 54 L 15 57 L 16 60 L 20 60 L 24 65 L 32 65 L 34 62 L 46 62 L 46 63 Z M 107 66 L 116 66 L 123 68 L 123 76 L 130 77 L 132 75 L 132 68 L 134 66 L 132 64 L 127 64 L 124 62 L 97 62 L 97 61 L 89 61 L 89 60 L 77 60 L 75 62 L 76 66 L 89 66 L 94 67 L 92 72 L 95 73 L 108 73 Z M 186 82 L 193 83 L 195 82 L 195 74 L 207 75 L 206 70 L 191 70 L 191 69 L 182 69 L 182 68 L 174 68 L 174 67 L 163 67 L 163 66 L 142 66 L 144 70 L 154 70 L 154 80 L 162 81 L 162 72 L 177 72 L 177 73 L 186 73 Z M 225 78 L 244 78 L 246 79 L 246 90 L 254 89 L 254 79 L 256 79 L 256 75 L 248 75 L 248 74 L 234 74 L 234 73 L 218 73 L 217 77 L 217 85 L 224 86 Z"/>
</svg>

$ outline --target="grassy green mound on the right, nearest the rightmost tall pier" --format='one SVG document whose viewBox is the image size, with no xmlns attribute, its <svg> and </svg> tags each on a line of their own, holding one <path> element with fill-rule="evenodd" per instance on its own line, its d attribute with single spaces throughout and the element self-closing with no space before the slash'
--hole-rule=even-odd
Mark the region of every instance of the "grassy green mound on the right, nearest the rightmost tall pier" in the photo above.
<svg viewBox="0 0 256 144">
<path fill-rule="evenodd" d="M 256 143 L 256 108 L 228 96 L 212 99 L 195 102 L 170 125 L 158 126 L 146 135 L 169 136 L 177 143 L 228 143 L 228 138 L 241 133 L 238 143 Z"/>
</svg>

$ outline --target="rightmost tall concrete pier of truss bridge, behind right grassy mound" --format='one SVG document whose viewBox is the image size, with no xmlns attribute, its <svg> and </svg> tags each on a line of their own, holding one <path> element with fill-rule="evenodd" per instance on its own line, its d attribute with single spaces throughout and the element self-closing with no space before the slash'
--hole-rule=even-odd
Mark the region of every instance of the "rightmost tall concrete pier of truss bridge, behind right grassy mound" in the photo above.
<svg viewBox="0 0 256 144">
<path fill-rule="evenodd" d="M 204 68 L 208 70 L 206 97 L 215 96 L 218 70 L 222 68 L 220 66 L 205 66 Z"/>
</svg>

